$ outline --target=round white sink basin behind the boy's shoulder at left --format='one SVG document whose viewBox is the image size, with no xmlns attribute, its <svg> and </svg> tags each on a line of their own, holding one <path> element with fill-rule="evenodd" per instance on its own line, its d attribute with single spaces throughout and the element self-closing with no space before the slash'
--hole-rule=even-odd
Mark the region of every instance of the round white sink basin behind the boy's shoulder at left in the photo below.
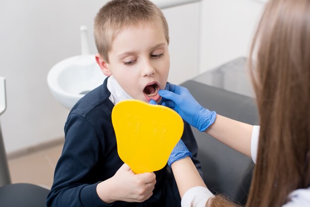
<svg viewBox="0 0 310 207">
<path fill-rule="evenodd" d="M 95 55 L 82 54 L 55 64 L 49 71 L 48 85 L 53 97 L 71 109 L 85 94 L 103 84 L 105 78 Z"/>
</svg>

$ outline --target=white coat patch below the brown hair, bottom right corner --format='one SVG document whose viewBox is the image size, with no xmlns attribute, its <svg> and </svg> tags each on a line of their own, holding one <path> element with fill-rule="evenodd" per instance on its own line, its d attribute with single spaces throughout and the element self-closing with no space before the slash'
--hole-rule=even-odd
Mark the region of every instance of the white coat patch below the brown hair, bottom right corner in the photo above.
<svg viewBox="0 0 310 207">
<path fill-rule="evenodd" d="M 310 207 L 310 188 L 293 191 L 282 207 Z"/>
</svg>

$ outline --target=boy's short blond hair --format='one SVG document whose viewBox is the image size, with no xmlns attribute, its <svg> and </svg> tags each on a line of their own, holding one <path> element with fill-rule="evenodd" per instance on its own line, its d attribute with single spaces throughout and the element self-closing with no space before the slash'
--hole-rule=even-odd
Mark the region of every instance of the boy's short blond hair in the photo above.
<svg viewBox="0 0 310 207">
<path fill-rule="evenodd" d="M 110 0 L 97 13 L 94 23 L 95 43 L 99 54 L 108 62 L 108 52 L 117 34 L 128 27 L 153 23 L 160 25 L 169 44 L 167 21 L 150 0 Z"/>
</svg>

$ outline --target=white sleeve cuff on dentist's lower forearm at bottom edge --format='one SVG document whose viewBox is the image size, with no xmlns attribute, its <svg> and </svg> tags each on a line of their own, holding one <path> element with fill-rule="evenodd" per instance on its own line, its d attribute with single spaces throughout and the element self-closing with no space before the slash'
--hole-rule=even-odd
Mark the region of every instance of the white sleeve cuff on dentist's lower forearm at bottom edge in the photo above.
<svg viewBox="0 0 310 207">
<path fill-rule="evenodd" d="M 196 186 L 185 192 L 181 207 L 206 207 L 209 198 L 213 197 L 214 195 L 206 187 Z"/>
</svg>

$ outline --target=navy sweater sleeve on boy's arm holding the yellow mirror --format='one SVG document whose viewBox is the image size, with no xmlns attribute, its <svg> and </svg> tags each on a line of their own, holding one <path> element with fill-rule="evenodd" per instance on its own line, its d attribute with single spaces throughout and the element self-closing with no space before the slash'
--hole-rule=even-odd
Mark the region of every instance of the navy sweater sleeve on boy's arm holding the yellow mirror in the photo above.
<svg viewBox="0 0 310 207">
<path fill-rule="evenodd" d="M 97 207 L 105 204 L 98 196 L 98 182 L 89 172 L 98 161 L 100 142 L 96 130 L 82 116 L 70 114 L 65 124 L 65 143 L 54 172 L 48 207 Z"/>
</svg>

